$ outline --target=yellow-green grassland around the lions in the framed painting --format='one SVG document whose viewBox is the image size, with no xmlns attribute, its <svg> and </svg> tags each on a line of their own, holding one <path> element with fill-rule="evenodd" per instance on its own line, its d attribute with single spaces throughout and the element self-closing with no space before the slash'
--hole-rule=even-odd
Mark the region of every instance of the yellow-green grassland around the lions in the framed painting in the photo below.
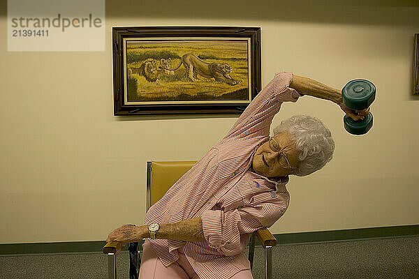
<svg viewBox="0 0 419 279">
<path fill-rule="evenodd" d="M 229 85 L 198 75 L 192 81 L 182 65 L 172 73 L 159 70 L 158 80 L 149 82 L 138 73 L 128 75 L 128 102 L 170 100 L 249 100 L 247 42 L 245 41 L 166 41 L 128 43 L 126 67 L 140 68 L 146 59 L 171 59 L 170 68 L 181 63 L 184 54 L 194 54 L 206 63 L 228 63 L 230 76 L 239 82 Z"/>
</svg>

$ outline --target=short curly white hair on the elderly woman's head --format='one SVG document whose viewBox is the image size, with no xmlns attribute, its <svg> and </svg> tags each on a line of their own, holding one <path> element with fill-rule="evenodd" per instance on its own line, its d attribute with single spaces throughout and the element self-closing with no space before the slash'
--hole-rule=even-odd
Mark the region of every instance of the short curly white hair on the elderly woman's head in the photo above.
<svg viewBox="0 0 419 279">
<path fill-rule="evenodd" d="M 306 176 L 332 160 L 335 141 L 323 122 L 307 115 L 294 115 L 274 128 L 274 136 L 286 132 L 300 151 L 300 166 L 295 173 Z"/>
</svg>

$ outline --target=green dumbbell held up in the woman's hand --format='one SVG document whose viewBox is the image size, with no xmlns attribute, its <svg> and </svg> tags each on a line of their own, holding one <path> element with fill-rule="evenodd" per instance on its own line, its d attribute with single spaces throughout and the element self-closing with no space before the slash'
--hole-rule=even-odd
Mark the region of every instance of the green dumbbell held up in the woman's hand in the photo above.
<svg viewBox="0 0 419 279">
<path fill-rule="evenodd" d="M 375 100 L 376 87 L 368 80 L 351 80 L 342 89 L 344 105 L 351 110 L 365 110 Z M 364 135 L 372 127 L 372 114 L 368 113 L 363 120 L 355 121 L 344 116 L 344 127 L 353 135 Z"/>
</svg>

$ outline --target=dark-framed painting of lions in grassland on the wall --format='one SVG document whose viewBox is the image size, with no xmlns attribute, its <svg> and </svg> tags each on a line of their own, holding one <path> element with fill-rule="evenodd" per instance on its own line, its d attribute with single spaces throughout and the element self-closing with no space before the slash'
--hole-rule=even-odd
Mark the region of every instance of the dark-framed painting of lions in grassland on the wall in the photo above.
<svg viewBox="0 0 419 279">
<path fill-rule="evenodd" d="M 259 27 L 113 27 L 114 114 L 239 114 L 260 91 Z"/>
</svg>

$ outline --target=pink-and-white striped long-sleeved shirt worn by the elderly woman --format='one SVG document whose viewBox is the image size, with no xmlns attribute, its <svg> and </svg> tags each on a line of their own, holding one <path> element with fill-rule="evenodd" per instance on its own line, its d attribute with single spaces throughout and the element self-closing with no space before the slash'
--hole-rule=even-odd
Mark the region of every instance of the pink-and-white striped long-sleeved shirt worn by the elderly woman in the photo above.
<svg viewBox="0 0 419 279">
<path fill-rule="evenodd" d="M 249 167 L 257 147 L 268 139 L 281 103 L 300 97 L 289 87 L 292 80 L 292 73 L 277 73 L 228 135 L 149 209 L 145 225 L 196 217 L 203 220 L 206 241 L 149 239 L 165 266 L 177 261 L 177 249 L 183 246 L 191 266 L 203 279 L 227 279 L 250 268 L 244 250 L 251 233 L 270 227 L 288 207 L 288 177 L 271 181 L 250 172 Z"/>
</svg>

